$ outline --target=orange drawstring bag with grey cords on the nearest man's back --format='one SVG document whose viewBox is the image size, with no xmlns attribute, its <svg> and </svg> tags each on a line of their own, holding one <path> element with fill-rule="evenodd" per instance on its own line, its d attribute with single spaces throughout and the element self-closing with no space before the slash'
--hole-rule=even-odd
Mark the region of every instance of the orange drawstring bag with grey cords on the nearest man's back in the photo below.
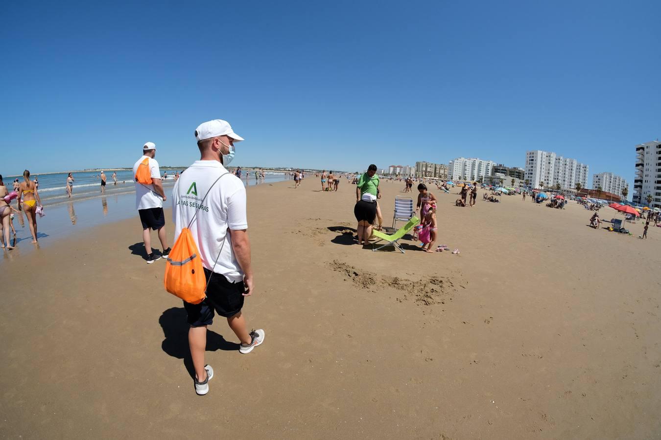
<svg viewBox="0 0 661 440">
<path fill-rule="evenodd" d="M 229 172 L 221 174 L 220 177 L 223 177 L 225 174 L 229 174 Z M 220 180 L 220 177 L 215 179 L 215 182 L 211 185 L 209 191 L 207 191 L 202 199 L 202 203 L 206 200 L 206 197 L 209 195 L 209 192 L 214 187 L 215 183 Z M 178 182 L 173 192 L 176 192 L 177 188 Z M 200 206 L 202 206 L 202 203 L 200 203 Z M 165 277 L 163 278 L 165 290 L 177 298 L 181 298 L 191 304 L 199 304 L 204 301 L 204 298 L 206 298 L 206 290 L 209 286 L 209 280 L 204 276 L 202 256 L 198 250 L 197 243 L 195 243 L 193 234 L 191 234 L 189 229 L 199 211 L 200 207 L 195 211 L 188 226 L 182 228 L 181 233 L 177 237 L 175 244 L 167 257 L 167 261 L 165 262 Z M 218 251 L 218 256 L 215 258 L 214 268 L 215 263 L 217 263 L 218 258 L 220 257 L 220 253 L 223 251 L 224 245 L 225 240 L 223 240 L 223 244 L 220 246 L 220 251 Z M 213 271 L 212 268 L 212 272 Z M 211 279 L 211 277 L 209 279 Z"/>
</svg>

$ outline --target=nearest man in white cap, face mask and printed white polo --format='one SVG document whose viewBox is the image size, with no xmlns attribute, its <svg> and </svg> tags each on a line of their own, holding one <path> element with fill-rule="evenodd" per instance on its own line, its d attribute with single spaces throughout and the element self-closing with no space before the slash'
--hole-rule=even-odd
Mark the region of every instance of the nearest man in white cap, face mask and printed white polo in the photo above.
<svg viewBox="0 0 661 440">
<path fill-rule="evenodd" d="M 227 318 L 227 324 L 241 340 L 241 354 L 250 353 L 264 341 L 264 330 L 248 332 L 241 313 L 245 297 L 254 292 L 246 190 L 241 179 L 223 166 L 223 156 L 243 138 L 221 119 L 200 125 L 195 137 L 201 157 L 176 181 L 172 217 L 175 241 L 182 228 L 190 229 L 208 280 L 204 301 L 184 301 L 195 391 L 206 394 L 208 382 L 214 377 L 214 369 L 204 363 L 206 329 L 212 324 L 214 313 Z"/>
</svg>

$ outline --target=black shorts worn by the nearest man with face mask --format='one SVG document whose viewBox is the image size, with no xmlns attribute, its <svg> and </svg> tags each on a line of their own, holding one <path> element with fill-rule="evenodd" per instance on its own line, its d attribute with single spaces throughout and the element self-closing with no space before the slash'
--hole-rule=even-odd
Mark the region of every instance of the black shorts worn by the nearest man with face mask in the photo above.
<svg viewBox="0 0 661 440">
<path fill-rule="evenodd" d="M 214 312 L 220 316 L 229 318 L 241 311 L 243 307 L 243 292 L 245 287 L 243 281 L 229 282 L 222 274 L 212 272 L 204 268 L 204 276 L 209 279 L 207 288 L 207 297 L 199 304 L 191 304 L 184 301 L 184 309 L 188 313 L 188 324 L 191 327 L 202 327 L 212 325 L 214 322 Z"/>
</svg>

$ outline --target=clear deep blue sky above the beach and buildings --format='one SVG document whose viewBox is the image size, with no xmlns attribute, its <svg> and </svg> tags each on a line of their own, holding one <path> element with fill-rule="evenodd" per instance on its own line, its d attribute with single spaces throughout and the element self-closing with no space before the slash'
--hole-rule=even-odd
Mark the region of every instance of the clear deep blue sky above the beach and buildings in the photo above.
<svg viewBox="0 0 661 440">
<path fill-rule="evenodd" d="M 233 165 L 542 149 L 630 183 L 661 137 L 659 1 L 19 3 L 0 15 L 5 175 L 131 166 L 146 141 L 190 164 L 216 118 L 247 139 Z"/>
</svg>

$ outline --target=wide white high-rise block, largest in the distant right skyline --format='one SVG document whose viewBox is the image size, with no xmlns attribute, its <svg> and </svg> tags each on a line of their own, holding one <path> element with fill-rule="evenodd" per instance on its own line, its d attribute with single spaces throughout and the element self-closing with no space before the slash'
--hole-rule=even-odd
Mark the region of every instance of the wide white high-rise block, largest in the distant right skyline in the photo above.
<svg viewBox="0 0 661 440">
<path fill-rule="evenodd" d="M 586 188 L 590 168 L 576 159 L 558 156 L 554 152 L 532 150 L 525 152 L 525 179 L 533 188 L 543 183 L 545 188 L 560 183 L 563 189 L 573 189 L 576 183 Z"/>
</svg>

